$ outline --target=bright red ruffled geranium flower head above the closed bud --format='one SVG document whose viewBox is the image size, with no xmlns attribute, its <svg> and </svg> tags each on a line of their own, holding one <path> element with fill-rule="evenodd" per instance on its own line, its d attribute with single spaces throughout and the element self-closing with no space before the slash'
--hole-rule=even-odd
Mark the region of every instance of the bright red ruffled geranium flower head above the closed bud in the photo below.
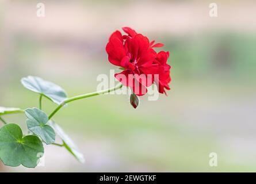
<svg viewBox="0 0 256 184">
<path fill-rule="evenodd" d="M 109 62 L 124 68 L 124 71 L 114 76 L 123 85 L 131 87 L 136 95 L 147 93 L 147 87 L 152 83 L 158 85 L 159 93 L 169 90 L 170 66 L 167 64 L 169 52 L 156 53 L 154 47 L 162 47 L 163 44 L 154 44 L 135 30 L 125 27 L 122 35 L 119 30 L 112 33 L 106 45 Z M 155 75 L 159 80 L 155 80 Z"/>
</svg>

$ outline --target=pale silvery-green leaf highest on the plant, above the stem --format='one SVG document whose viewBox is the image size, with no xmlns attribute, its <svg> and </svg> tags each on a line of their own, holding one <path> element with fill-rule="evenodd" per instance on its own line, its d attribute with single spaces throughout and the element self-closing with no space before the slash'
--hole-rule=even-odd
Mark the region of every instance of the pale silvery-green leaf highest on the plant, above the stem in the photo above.
<svg viewBox="0 0 256 184">
<path fill-rule="evenodd" d="M 26 89 L 42 94 L 58 105 L 67 99 L 67 94 L 62 87 L 52 82 L 44 81 L 37 76 L 22 78 L 21 83 Z"/>
</svg>

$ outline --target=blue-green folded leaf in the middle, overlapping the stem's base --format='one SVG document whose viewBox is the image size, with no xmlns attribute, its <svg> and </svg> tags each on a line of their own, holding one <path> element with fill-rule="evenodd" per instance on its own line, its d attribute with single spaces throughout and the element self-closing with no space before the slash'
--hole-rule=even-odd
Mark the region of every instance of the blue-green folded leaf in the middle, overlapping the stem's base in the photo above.
<svg viewBox="0 0 256 184">
<path fill-rule="evenodd" d="M 46 144 L 55 142 L 55 131 L 51 126 L 47 125 L 48 116 L 43 111 L 37 108 L 29 108 L 25 110 L 25 114 L 28 117 L 26 124 L 29 131 L 40 136 Z"/>
</svg>

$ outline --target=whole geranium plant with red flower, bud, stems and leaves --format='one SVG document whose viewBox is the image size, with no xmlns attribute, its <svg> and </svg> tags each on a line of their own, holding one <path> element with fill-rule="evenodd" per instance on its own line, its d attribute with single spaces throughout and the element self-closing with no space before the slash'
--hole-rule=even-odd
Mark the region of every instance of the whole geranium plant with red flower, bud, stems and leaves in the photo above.
<svg viewBox="0 0 256 184">
<path fill-rule="evenodd" d="M 155 47 L 162 47 L 163 44 L 154 44 L 154 41 L 150 42 L 147 37 L 131 28 L 126 27 L 123 30 L 127 34 L 122 35 L 117 30 L 112 33 L 106 45 L 109 62 L 123 70 L 114 75 L 120 81 L 116 87 L 68 98 L 62 87 L 52 82 L 37 76 L 21 79 L 26 89 L 39 94 L 39 106 L 25 110 L 0 107 L 0 120 L 3 122 L 3 127 L 0 129 L 0 159 L 6 166 L 16 167 L 22 164 L 29 168 L 36 167 L 44 154 L 44 144 L 64 147 L 79 162 L 84 162 L 83 155 L 73 141 L 52 119 L 63 106 L 67 106 L 72 101 L 110 93 L 124 85 L 131 89 L 130 102 L 133 108 L 137 108 L 138 96 L 145 95 L 147 87 L 155 84 L 159 93 L 165 94 L 166 90 L 170 90 L 170 66 L 167 64 L 169 52 L 157 53 L 154 50 Z M 58 104 L 51 114 L 43 111 L 43 98 Z M 19 125 L 4 120 L 3 116 L 14 113 L 25 114 L 28 135 L 22 132 Z M 62 139 L 62 143 L 55 142 L 56 136 Z"/>
</svg>

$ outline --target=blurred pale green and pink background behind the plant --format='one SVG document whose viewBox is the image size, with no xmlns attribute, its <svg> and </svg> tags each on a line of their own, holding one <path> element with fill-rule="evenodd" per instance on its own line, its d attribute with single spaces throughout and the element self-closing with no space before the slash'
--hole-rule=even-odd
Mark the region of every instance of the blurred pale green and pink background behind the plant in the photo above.
<svg viewBox="0 0 256 184">
<path fill-rule="evenodd" d="M 36 5 L 45 5 L 45 17 Z M 127 95 L 73 102 L 55 121 L 85 155 L 78 163 L 64 148 L 45 147 L 45 166 L 0 166 L 0 171 L 256 171 L 256 2 L 0 1 L 0 106 L 38 106 L 39 95 L 20 79 L 36 75 L 71 97 L 95 91 L 98 74 L 116 68 L 105 45 L 131 26 L 165 43 L 171 91 L 158 101 Z M 158 49 L 159 51 L 159 49 Z M 56 106 L 47 99 L 43 109 Z M 4 117 L 25 129 L 25 116 Z M 0 125 L 2 126 L 2 125 Z M 209 166 L 216 152 L 217 167 Z"/>
</svg>

